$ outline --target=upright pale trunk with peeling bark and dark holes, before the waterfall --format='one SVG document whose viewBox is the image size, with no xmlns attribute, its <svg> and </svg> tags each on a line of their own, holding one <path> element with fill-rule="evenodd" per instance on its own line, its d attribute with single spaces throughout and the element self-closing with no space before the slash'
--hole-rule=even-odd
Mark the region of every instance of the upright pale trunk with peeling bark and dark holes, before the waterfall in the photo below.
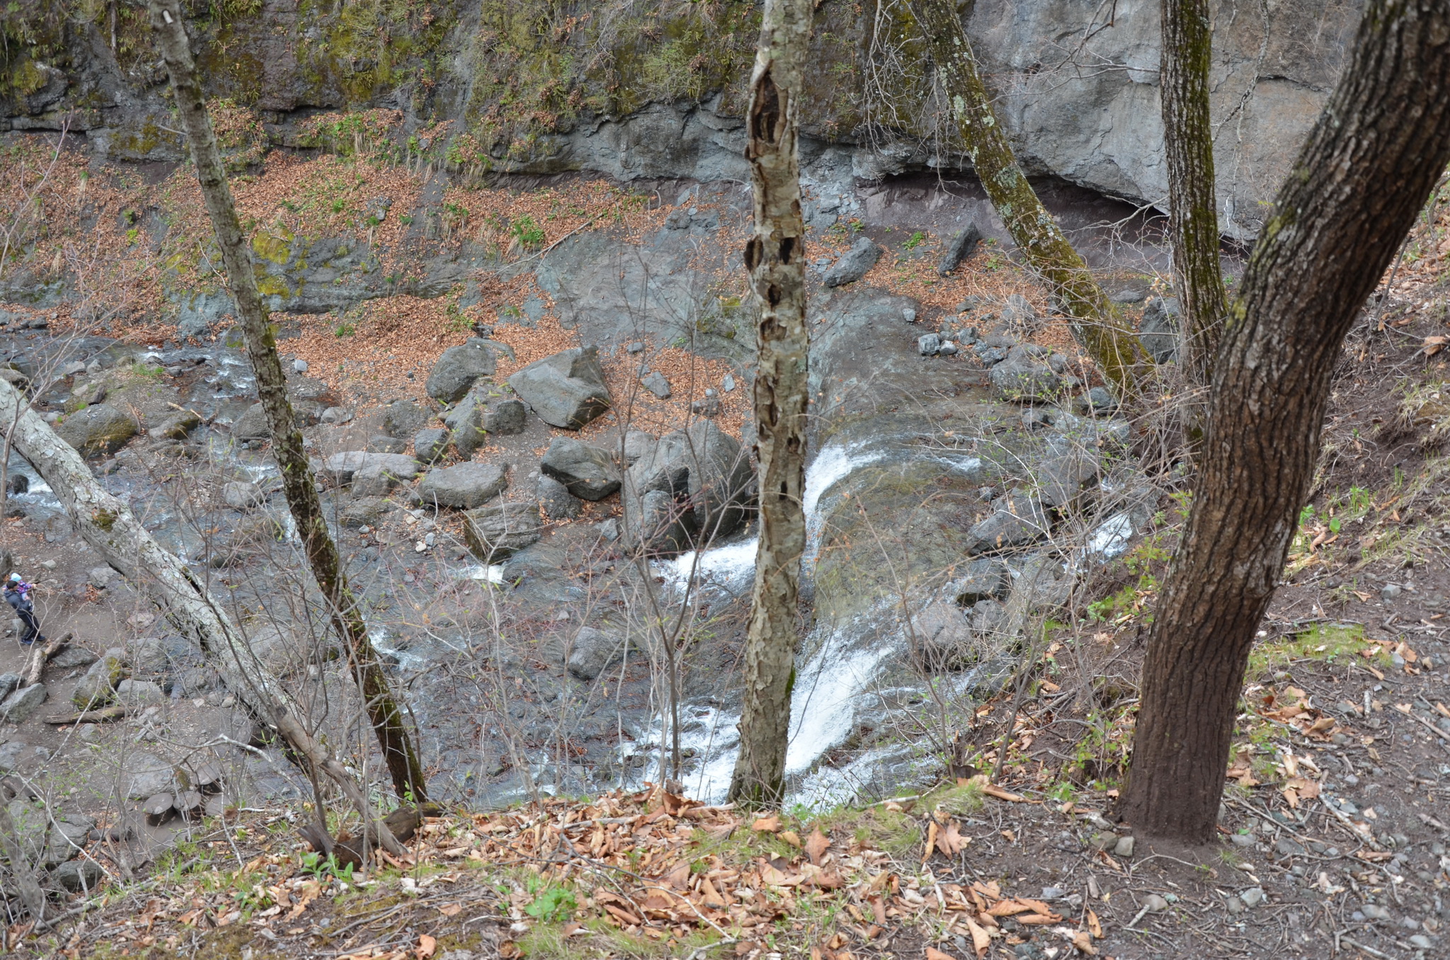
<svg viewBox="0 0 1450 960">
<path fill-rule="evenodd" d="M 760 307 L 754 384 L 760 547 L 745 634 L 740 757 L 729 785 L 729 798 L 744 803 L 779 805 L 784 796 L 796 599 L 806 548 L 809 332 L 796 128 L 811 15 L 812 0 L 766 0 L 747 117 L 755 233 L 745 244 L 745 268 Z"/>
</svg>

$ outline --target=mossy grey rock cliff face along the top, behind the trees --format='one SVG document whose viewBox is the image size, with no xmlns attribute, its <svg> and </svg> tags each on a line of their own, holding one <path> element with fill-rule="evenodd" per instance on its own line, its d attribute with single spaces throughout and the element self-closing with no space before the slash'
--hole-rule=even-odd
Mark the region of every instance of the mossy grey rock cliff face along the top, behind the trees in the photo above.
<svg viewBox="0 0 1450 960">
<path fill-rule="evenodd" d="M 967 9 L 970 7 L 970 9 Z M 1024 165 L 1161 204 L 1154 0 L 979 0 L 964 7 Z M 1344 61 L 1362 0 L 1215 4 L 1221 223 L 1247 238 Z M 754 3 L 213 0 L 193 3 L 210 90 L 242 167 L 270 146 L 362 136 L 405 117 L 405 155 L 464 171 L 593 170 L 744 178 L 740 115 Z M 966 170 L 900 0 L 819 4 L 808 178 Z M 68 129 L 115 160 L 180 158 L 144 12 L 20 0 L 0 23 L 0 129 Z M 318 113 L 336 113 L 328 123 Z M 312 119 L 309 123 L 307 120 Z"/>
</svg>

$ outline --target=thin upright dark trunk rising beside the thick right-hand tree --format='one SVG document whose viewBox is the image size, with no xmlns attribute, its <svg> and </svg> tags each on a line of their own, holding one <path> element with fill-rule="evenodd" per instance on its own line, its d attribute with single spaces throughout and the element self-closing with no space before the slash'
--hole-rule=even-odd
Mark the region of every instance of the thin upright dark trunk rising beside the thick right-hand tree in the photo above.
<svg viewBox="0 0 1450 960">
<path fill-rule="evenodd" d="M 1218 265 L 1218 200 L 1214 191 L 1214 128 L 1208 68 L 1214 30 L 1208 0 L 1163 0 L 1164 152 L 1169 161 L 1169 223 L 1173 273 L 1183 305 L 1179 365 L 1192 383 L 1208 384 L 1218 331 L 1228 313 Z"/>
</svg>

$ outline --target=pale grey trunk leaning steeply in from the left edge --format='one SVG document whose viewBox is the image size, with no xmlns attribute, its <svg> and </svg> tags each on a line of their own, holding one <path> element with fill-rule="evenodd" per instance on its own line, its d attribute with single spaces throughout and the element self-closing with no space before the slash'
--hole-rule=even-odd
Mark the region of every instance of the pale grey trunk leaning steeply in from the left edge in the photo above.
<svg viewBox="0 0 1450 960">
<path fill-rule="evenodd" d="M 258 719 L 276 727 L 299 756 L 336 782 L 358 809 L 362 822 L 371 822 L 371 806 L 357 782 L 302 725 L 296 703 L 261 670 L 225 608 L 175 554 L 157 542 L 129 506 L 96 481 L 75 448 L 61 439 L 35 410 L 26 407 L 25 397 L 0 380 L 0 423 L 12 425 L 10 442 L 45 477 L 81 538 L 126 580 L 144 590 L 177 629 L 193 638 L 207 663 L 222 674 L 228 689 Z M 378 838 L 390 853 L 403 851 L 381 829 Z"/>
</svg>

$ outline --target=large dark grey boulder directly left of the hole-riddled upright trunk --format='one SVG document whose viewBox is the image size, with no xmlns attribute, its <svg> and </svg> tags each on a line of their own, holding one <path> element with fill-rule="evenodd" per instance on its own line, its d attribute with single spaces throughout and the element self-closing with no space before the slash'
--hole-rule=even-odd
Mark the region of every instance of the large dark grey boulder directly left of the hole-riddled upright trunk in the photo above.
<svg viewBox="0 0 1450 960">
<path fill-rule="evenodd" d="M 700 532 L 728 537 L 753 499 L 750 457 L 712 421 L 676 431 L 625 473 L 626 539 L 651 553 L 677 553 Z"/>
</svg>

